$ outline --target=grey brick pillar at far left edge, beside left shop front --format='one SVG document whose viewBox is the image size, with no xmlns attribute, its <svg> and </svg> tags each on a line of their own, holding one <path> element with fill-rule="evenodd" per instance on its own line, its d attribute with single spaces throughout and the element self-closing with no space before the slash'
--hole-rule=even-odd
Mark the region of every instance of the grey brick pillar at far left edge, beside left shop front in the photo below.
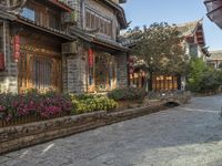
<svg viewBox="0 0 222 166">
<path fill-rule="evenodd" d="M 0 71 L 0 91 L 18 92 L 18 63 L 14 61 L 12 55 L 10 23 L 4 21 L 6 25 L 6 70 Z M 1 35 L 2 34 L 1 28 Z"/>
</svg>

